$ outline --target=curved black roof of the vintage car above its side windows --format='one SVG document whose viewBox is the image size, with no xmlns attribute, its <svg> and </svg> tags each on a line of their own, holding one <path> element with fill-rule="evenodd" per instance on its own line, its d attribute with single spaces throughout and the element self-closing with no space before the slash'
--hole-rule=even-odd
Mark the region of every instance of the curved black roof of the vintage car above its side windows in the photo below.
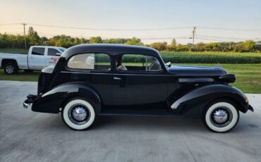
<svg viewBox="0 0 261 162">
<path fill-rule="evenodd" d="M 150 54 L 158 55 L 158 51 L 156 49 L 152 49 L 147 46 L 134 46 L 134 45 L 125 45 L 125 44 L 80 44 L 76 46 L 72 46 L 66 51 L 63 52 L 63 57 L 71 56 L 71 54 L 75 54 L 77 52 L 83 51 L 142 51 Z"/>
</svg>

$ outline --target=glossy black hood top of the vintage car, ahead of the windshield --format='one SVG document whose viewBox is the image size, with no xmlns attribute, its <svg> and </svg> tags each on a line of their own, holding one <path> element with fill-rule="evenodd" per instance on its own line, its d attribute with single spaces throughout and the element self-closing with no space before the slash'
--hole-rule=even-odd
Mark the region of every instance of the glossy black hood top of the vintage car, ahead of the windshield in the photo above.
<svg viewBox="0 0 261 162">
<path fill-rule="evenodd" d="M 176 75 L 224 75 L 226 71 L 221 67 L 206 66 L 171 66 L 169 73 Z"/>
</svg>

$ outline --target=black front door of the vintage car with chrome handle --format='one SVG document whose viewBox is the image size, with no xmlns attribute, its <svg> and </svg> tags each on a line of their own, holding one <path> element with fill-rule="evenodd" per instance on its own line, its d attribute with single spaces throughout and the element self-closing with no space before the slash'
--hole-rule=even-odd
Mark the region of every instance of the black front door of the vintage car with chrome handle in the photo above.
<svg viewBox="0 0 261 162">
<path fill-rule="evenodd" d="M 157 70 L 147 69 L 150 65 L 145 57 L 148 56 L 159 61 L 158 58 L 147 54 L 121 53 L 117 56 L 116 64 L 121 57 L 121 64 L 125 67 L 119 68 L 120 66 L 116 65 L 113 74 L 114 105 L 153 104 L 165 101 L 167 96 L 166 75 L 161 65 Z"/>
</svg>

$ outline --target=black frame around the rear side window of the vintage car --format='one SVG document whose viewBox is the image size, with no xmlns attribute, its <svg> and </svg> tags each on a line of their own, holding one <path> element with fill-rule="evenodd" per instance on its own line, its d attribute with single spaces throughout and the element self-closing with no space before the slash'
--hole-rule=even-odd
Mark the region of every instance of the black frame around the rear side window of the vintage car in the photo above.
<svg viewBox="0 0 261 162">
<path fill-rule="evenodd" d="M 70 61 L 70 59 L 73 56 L 79 55 L 79 54 L 107 54 L 107 56 L 109 56 L 110 59 L 110 70 L 99 70 L 99 69 L 85 69 L 85 68 L 70 68 L 68 67 L 68 61 Z M 109 54 L 107 51 L 82 51 L 79 53 L 75 53 L 75 54 L 71 54 L 70 57 L 66 58 L 66 62 L 65 62 L 65 68 L 66 70 L 70 71 L 70 72 L 83 72 L 83 73 L 91 73 L 91 72 L 95 72 L 95 73 L 111 73 L 112 71 L 112 56 L 111 54 Z"/>
</svg>

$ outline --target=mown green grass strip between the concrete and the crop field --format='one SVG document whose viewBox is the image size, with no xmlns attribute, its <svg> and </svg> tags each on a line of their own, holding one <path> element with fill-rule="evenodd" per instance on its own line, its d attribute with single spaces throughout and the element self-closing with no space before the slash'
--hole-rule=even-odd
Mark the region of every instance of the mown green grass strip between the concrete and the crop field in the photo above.
<svg viewBox="0 0 261 162">
<path fill-rule="evenodd" d="M 128 65 L 134 65 L 129 63 Z M 177 63 L 176 65 L 214 66 L 212 63 Z M 220 64 L 228 73 L 236 75 L 236 82 L 231 84 L 245 93 L 261 93 L 261 64 Z M 37 81 L 40 72 L 24 73 L 20 70 L 16 75 L 6 75 L 0 70 L 0 80 Z"/>
</svg>

